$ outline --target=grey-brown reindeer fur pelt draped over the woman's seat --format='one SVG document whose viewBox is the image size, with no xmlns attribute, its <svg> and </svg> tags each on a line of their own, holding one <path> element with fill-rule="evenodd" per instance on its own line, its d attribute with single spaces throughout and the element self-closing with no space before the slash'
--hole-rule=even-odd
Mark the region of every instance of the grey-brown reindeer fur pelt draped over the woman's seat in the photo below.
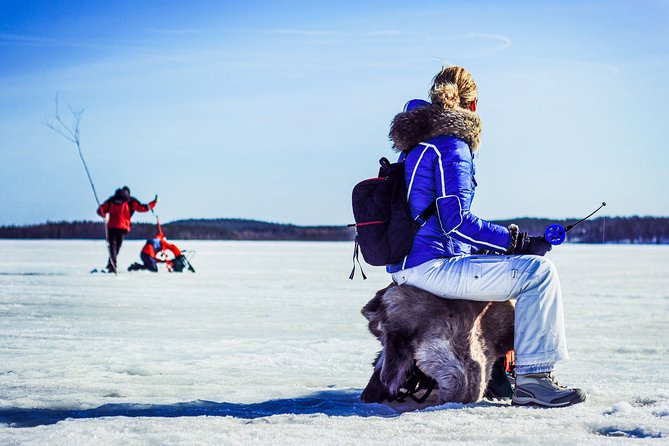
<svg viewBox="0 0 669 446">
<path fill-rule="evenodd" d="M 393 284 L 362 314 L 383 347 L 361 395 L 365 402 L 392 401 L 414 367 L 437 382 L 439 403 L 479 401 L 494 362 L 513 348 L 511 302 L 442 299 Z"/>
</svg>

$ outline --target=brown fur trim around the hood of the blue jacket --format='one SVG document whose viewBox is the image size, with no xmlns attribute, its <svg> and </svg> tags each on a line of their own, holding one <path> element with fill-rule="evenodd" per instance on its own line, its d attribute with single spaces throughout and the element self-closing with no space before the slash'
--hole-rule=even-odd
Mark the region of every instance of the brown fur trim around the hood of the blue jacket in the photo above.
<svg viewBox="0 0 669 446">
<path fill-rule="evenodd" d="M 462 108 L 445 110 L 427 104 L 396 115 L 388 136 L 398 152 L 435 136 L 454 136 L 465 141 L 475 153 L 481 140 L 481 118 Z"/>
</svg>

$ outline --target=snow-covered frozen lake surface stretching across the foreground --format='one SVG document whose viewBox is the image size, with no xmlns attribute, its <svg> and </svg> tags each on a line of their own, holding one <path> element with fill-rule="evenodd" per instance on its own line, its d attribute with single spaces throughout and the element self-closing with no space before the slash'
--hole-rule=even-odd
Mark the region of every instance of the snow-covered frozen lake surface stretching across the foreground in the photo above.
<svg viewBox="0 0 669 446">
<path fill-rule="evenodd" d="M 142 243 L 124 243 L 119 266 Z M 556 247 L 565 409 L 363 404 L 351 243 L 181 242 L 197 273 L 89 274 L 102 242 L 0 240 L 0 444 L 666 444 L 669 247 Z"/>
</svg>

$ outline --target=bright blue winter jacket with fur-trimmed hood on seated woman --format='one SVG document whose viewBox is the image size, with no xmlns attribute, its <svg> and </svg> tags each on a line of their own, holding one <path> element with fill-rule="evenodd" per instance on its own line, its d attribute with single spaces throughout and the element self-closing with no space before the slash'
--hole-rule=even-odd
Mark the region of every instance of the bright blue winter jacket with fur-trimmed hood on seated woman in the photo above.
<svg viewBox="0 0 669 446">
<path fill-rule="evenodd" d="M 500 253 L 509 248 L 507 228 L 470 211 L 476 189 L 470 146 L 478 147 L 478 116 L 421 102 L 419 110 L 395 117 L 391 138 L 398 150 L 410 150 L 400 159 L 404 158 L 411 214 L 417 217 L 435 200 L 437 209 L 414 237 L 409 254 L 386 267 L 390 273 L 436 258 L 471 254 L 478 248 Z M 416 141 L 420 142 L 413 144 Z"/>
</svg>

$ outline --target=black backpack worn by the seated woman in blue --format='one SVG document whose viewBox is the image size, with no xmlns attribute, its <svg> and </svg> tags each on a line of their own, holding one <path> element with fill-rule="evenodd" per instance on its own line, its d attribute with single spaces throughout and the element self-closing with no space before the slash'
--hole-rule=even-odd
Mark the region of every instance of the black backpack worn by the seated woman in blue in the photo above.
<svg viewBox="0 0 669 446">
<path fill-rule="evenodd" d="M 390 163 L 379 160 L 381 168 L 377 178 L 369 178 L 353 188 L 353 218 L 355 247 L 353 248 L 353 270 L 355 262 L 360 265 L 358 251 L 370 265 L 383 266 L 401 261 L 411 251 L 413 237 L 434 213 L 432 202 L 415 219 L 411 216 L 404 179 L 404 161 Z M 360 265 L 363 279 L 365 273 Z"/>
</svg>

